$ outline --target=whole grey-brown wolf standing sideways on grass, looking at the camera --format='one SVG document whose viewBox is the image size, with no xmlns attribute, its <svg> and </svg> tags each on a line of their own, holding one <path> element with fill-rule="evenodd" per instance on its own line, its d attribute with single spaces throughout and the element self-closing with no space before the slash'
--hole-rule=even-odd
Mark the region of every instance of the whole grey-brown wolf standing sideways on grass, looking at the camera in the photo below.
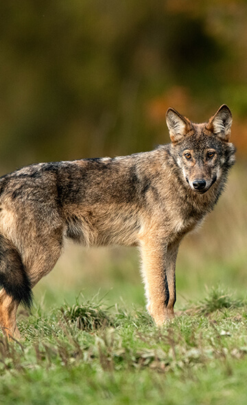
<svg viewBox="0 0 247 405">
<path fill-rule="evenodd" d="M 232 115 L 204 124 L 174 108 L 171 143 L 125 157 L 37 163 L 0 178 L 0 325 L 19 338 L 16 310 L 54 268 L 64 240 L 138 246 L 147 308 L 156 325 L 174 316 L 178 246 L 217 203 L 235 162 Z"/>
</svg>

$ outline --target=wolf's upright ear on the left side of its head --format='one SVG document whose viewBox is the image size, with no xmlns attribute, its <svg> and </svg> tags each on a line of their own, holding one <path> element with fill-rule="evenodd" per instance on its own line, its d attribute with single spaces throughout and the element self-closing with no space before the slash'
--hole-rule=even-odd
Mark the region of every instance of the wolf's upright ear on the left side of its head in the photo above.
<svg viewBox="0 0 247 405">
<path fill-rule="evenodd" d="M 168 108 L 165 117 L 172 143 L 181 141 L 189 130 L 191 122 L 174 108 Z"/>
</svg>

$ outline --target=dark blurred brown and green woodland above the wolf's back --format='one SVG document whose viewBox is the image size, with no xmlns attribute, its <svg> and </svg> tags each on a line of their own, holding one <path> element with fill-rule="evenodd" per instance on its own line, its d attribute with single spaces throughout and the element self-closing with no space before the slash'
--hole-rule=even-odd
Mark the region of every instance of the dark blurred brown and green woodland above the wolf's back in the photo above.
<svg viewBox="0 0 247 405">
<path fill-rule="evenodd" d="M 246 16 L 237 0 L 2 2 L 1 171 L 150 149 L 169 105 L 201 120 L 226 102 L 239 128 Z"/>
</svg>

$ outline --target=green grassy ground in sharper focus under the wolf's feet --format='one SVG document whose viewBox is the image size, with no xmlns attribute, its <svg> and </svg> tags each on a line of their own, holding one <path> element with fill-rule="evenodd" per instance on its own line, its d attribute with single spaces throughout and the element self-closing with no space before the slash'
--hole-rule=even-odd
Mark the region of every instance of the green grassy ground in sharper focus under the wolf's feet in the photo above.
<svg viewBox="0 0 247 405">
<path fill-rule="evenodd" d="M 221 288 L 154 326 L 106 299 L 22 312 L 0 340 L 0 403 L 246 404 L 247 303 Z"/>
</svg>

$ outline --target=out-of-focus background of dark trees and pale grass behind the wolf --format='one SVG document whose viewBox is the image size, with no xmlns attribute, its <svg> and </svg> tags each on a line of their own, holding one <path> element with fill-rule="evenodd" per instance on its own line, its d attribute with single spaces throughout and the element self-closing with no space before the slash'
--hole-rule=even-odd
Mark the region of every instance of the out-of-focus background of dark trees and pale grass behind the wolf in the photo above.
<svg viewBox="0 0 247 405">
<path fill-rule="evenodd" d="M 204 122 L 226 103 L 237 164 L 178 254 L 178 307 L 220 283 L 247 287 L 247 2 L 25 0 L 0 4 L 0 174 L 169 141 L 173 106 Z M 69 245 L 38 286 L 49 305 L 108 292 L 143 305 L 134 249 Z"/>
</svg>

